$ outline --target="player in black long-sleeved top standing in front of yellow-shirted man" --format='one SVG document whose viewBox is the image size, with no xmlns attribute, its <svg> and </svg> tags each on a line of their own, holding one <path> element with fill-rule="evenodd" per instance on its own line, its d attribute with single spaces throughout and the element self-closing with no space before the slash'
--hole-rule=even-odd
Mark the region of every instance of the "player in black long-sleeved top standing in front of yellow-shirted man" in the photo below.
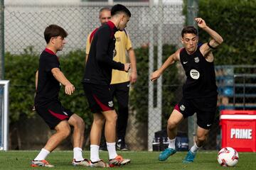
<svg viewBox="0 0 256 170">
<path fill-rule="evenodd" d="M 94 34 L 90 52 L 85 66 L 83 87 L 93 113 L 93 123 L 90 131 L 90 162 L 91 166 L 107 167 L 99 157 L 100 137 L 105 123 L 105 138 L 109 153 L 109 165 L 122 165 L 130 162 L 117 155 L 115 148 L 117 113 L 110 94 L 112 69 L 128 72 L 129 63 L 115 62 L 117 54 L 114 33 L 124 30 L 131 17 L 130 11 L 123 5 L 114 5 L 111 9 L 110 21 L 102 25 Z"/>
</svg>

